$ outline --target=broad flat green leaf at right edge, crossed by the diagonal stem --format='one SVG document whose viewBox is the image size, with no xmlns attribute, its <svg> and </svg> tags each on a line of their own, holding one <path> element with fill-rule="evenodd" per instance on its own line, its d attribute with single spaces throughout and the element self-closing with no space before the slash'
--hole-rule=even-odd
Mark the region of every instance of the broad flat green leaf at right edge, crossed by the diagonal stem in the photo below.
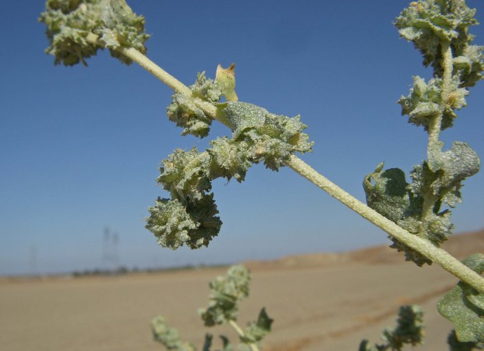
<svg viewBox="0 0 484 351">
<path fill-rule="evenodd" d="M 472 254 L 462 263 L 482 274 L 484 254 Z M 484 294 L 465 282 L 443 295 L 437 304 L 439 313 L 454 324 L 457 339 L 462 342 L 484 342 Z"/>
</svg>

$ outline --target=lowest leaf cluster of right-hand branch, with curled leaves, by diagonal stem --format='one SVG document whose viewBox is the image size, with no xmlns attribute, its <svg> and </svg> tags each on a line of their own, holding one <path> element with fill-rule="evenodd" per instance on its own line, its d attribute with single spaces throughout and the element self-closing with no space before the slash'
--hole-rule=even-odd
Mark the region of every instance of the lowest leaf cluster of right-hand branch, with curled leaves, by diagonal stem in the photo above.
<svg viewBox="0 0 484 351">
<path fill-rule="evenodd" d="M 446 152 L 435 149 L 429 153 L 428 161 L 414 166 L 410 184 L 406 182 L 404 171 L 397 168 L 382 171 L 383 164 L 380 164 L 367 175 L 363 188 L 368 206 L 408 232 L 439 245 L 446 241 L 453 229 L 450 210 L 442 210 L 441 206 L 446 204 L 454 208 L 460 203 L 463 180 L 477 173 L 479 168 L 476 152 L 468 144 L 456 141 Z M 424 221 L 424 197 L 429 193 L 435 199 L 435 205 Z M 431 264 L 430 260 L 397 239 L 390 239 L 393 241 L 391 247 L 405 252 L 407 261 L 419 266 Z"/>
</svg>

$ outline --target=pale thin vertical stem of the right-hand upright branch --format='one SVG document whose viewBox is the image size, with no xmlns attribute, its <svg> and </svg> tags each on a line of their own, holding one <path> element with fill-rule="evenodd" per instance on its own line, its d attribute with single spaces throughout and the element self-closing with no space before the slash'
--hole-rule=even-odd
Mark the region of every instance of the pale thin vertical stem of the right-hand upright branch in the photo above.
<svg viewBox="0 0 484 351">
<path fill-rule="evenodd" d="M 449 41 L 441 42 L 441 53 L 442 53 L 442 90 L 441 90 L 441 104 L 440 112 L 436 114 L 428 125 L 428 145 L 427 145 L 427 158 L 430 160 L 433 156 L 431 155 L 436 149 L 440 147 L 439 145 L 439 135 L 442 126 L 443 113 L 446 110 L 446 105 L 448 97 L 452 89 L 452 70 L 454 68 L 452 63 L 452 49 L 450 48 Z M 424 204 L 422 205 L 422 227 L 420 232 L 424 233 L 427 231 L 426 222 L 433 215 L 433 210 L 437 197 L 434 195 L 432 189 L 429 189 L 424 195 Z"/>
</svg>

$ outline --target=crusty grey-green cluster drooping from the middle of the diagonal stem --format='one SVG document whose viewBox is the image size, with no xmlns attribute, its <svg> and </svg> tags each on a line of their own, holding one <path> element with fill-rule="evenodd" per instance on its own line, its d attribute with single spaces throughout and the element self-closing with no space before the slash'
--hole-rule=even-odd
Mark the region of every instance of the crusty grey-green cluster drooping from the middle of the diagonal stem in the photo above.
<svg viewBox="0 0 484 351">
<path fill-rule="evenodd" d="M 218 101 L 221 85 L 200 73 L 190 88 L 192 97 Z M 194 104 L 192 97 L 175 94 L 168 116 L 184 128 L 183 134 L 205 136 L 210 117 Z M 304 133 L 306 125 L 299 116 L 287 117 L 241 101 L 216 104 L 220 113 L 233 125 L 231 138 L 224 136 L 210 142 L 204 152 L 196 147 L 176 149 L 161 162 L 157 182 L 171 199 L 157 199 L 149 208 L 146 228 L 163 247 L 176 249 L 187 244 L 192 249 L 207 246 L 220 231 L 222 221 L 211 193 L 217 178 L 244 180 L 253 164 L 263 162 L 277 171 L 295 152 L 310 152 L 312 143 Z"/>
</svg>

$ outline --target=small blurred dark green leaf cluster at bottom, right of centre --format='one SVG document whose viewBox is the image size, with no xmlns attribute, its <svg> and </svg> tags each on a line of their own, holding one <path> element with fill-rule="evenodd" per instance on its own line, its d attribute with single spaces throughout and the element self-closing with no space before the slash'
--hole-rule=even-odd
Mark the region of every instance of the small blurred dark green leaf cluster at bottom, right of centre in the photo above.
<svg viewBox="0 0 484 351">
<path fill-rule="evenodd" d="M 416 346 L 424 339 L 424 311 L 417 305 L 400 306 L 397 326 L 382 332 L 384 343 L 370 345 L 368 340 L 360 343 L 359 351 L 400 351 L 404 345 Z"/>
</svg>

